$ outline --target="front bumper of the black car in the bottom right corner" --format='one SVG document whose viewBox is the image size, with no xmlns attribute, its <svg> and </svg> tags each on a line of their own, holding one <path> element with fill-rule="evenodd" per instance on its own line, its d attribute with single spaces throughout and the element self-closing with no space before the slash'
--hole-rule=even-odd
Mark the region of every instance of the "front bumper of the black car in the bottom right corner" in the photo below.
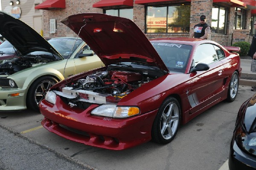
<svg viewBox="0 0 256 170">
<path fill-rule="evenodd" d="M 256 157 L 242 151 L 233 140 L 228 164 L 230 170 L 256 170 Z"/>
</svg>

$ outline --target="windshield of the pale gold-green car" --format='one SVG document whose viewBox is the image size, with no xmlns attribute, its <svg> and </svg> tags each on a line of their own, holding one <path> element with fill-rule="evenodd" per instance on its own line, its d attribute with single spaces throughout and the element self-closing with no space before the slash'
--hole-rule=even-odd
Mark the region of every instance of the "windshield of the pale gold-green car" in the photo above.
<svg viewBox="0 0 256 170">
<path fill-rule="evenodd" d="M 76 40 L 73 38 L 53 38 L 48 40 L 48 42 L 61 54 L 63 58 L 67 59 L 70 55 L 73 54 L 73 52 L 83 42 L 83 40 L 81 39 Z M 74 43 L 75 43 L 75 46 L 74 46 Z M 71 52 L 72 48 L 73 50 Z"/>
</svg>

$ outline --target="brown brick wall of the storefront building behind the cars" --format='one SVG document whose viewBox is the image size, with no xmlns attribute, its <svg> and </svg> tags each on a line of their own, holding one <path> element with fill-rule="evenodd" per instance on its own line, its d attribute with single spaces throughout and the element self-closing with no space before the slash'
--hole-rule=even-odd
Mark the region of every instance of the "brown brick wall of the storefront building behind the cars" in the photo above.
<svg viewBox="0 0 256 170">
<path fill-rule="evenodd" d="M 211 18 L 212 18 L 212 1 L 213 0 L 191 0 L 191 11 L 190 11 L 190 32 L 193 31 L 195 24 L 199 23 L 200 16 L 202 14 L 206 15 L 206 23 L 211 26 Z M 76 34 L 73 33 L 67 26 L 60 23 L 61 20 L 70 16 L 71 14 L 78 14 L 84 12 L 97 12 L 103 13 L 103 9 L 93 8 L 93 4 L 99 2 L 99 0 L 66 0 L 66 9 L 51 9 L 51 10 L 43 10 L 44 12 L 44 37 L 76 37 Z M 172 3 L 180 3 L 179 0 L 172 1 L 163 1 L 158 3 L 149 3 L 149 6 L 156 5 L 166 5 Z M 250 10 L 247 10 L 247 19 L 246 19 L 246 29 L 244 30 L 234 30 L 234 15 L 235 8 L 231 7 L 227 3 L 218 3 L 221 6 L 225 6 L 228 8 L 227 14 L 227 35 L 220 34 L 210 34 L 208 39 L 216 41 L 224 46 L 230 46 L 231 43 L 237 41 L 247 41 L 249 39 L 248 35 L 250 32 Z M 105 9 L 118 9 L 121 7 L 127 6 L 111 6 L 105 7 Z M 145 33 L 145 8 L 144 5 L 139 5 L 134 3 L 134 23 Z M 56 19 L 57 23 L 57 32 L 56 34 L 49 34 L 49 20 Z M 156 38 L 156 37 L 189 37 L 188 33 L 169 33 L 169 34 L 145 34 L 148 38 Z M 233 36 L 233 39 L 232 39 Z"/>
</svg>

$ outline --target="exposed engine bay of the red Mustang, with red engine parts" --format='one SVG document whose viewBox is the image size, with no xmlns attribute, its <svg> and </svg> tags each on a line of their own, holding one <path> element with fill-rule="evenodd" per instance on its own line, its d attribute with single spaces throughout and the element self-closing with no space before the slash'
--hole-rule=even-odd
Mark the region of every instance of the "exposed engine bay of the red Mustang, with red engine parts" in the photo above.
<svg viewBox="0 0 256 170">
<path fill-rule="evenodd" d="M 87 75 L 85 78 L 66 85 L 62 88 L 62 92 L 53 91 L 65 103 L 75 106 L 88 105 L 88 103 L 113 104 L 118 103 L 135 89 L 164 74 L 160 69 L 124 69 L 118 66 L 109 66 L 106 71 Z"/>
</svg>

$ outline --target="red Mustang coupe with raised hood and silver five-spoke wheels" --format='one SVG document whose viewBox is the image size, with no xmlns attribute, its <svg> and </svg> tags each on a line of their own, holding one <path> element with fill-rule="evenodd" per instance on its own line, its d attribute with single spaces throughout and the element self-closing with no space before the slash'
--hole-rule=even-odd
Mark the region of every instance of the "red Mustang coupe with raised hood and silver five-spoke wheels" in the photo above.
<svg viewBox="0 0 256 170">
<path fill-rule="evenodd" d="M 86 13 L 62 23 L 105 64 L 52 86 L 42 125 L 72 141 L 123 150 L 167 144 L 185 124 L 220 101 L 234 101 L 239 47 L 195 38 L 148 40 L 131 20 Z"/>
</svg>

